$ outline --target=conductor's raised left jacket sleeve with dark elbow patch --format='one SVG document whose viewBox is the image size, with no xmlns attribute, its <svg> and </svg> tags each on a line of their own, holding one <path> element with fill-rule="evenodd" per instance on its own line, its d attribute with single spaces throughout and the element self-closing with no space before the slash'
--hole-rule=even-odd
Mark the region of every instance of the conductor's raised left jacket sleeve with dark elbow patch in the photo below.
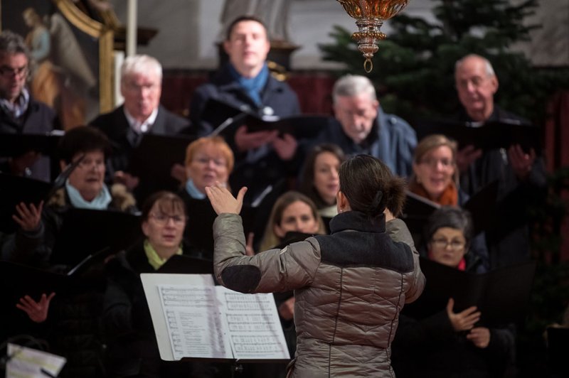
<svg viewBox="0 0 569 378">
<path fill-rule="evenodd" d="M 320 264 L 316 239 L 245 256 L 241 217 L 221 214 L 213 222 L 213 270 L 220 284 L 241 293 L 271 293 L 309 285 Z"/>
</svg>

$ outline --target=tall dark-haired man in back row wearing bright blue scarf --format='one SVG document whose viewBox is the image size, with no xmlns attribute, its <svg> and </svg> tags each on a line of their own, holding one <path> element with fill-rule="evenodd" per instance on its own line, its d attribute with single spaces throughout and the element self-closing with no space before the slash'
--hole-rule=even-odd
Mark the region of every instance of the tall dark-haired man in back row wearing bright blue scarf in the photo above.
<svg viewBox="0 0 569 378">
<path fill-rule="evenodd" d="M 204 117 L 209 99 L 217 99 L 236 109 L 262 115 L 288 117 L 300 113 L 297 95 L 285 82 L 270 75 L 267 53 L 270 42 L 267 29 L 259 19 L 241 16 L 228 27 L 223 43 L 229 63 L 213 79 L 198 87 L 190 105 L 190 118 L 196 134 L 211 134 L 218 124 Z M 228 144 L 235 152 L 235 169 L 230 178 L 232 188 L 249 188 L 250 200 L 268 185 L 297 174 L 297 141 L 277 131 L 248 132 L 240 125 Z"/>
</svg>

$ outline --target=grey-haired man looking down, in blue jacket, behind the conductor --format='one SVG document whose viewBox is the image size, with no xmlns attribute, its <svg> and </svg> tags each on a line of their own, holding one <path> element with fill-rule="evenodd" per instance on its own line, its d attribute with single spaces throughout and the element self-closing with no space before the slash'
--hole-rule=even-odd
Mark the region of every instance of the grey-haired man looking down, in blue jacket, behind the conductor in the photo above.
<svg viewBox="0 0 569 378">
<path fill-rule="evenodd" d="M 403 119 L 383 112 L 371 81 L 346 75 L 334 84 L 334 119 L 318 137 L 337 144 L 347 155 L 367 153 L 381 159 L 396 175 L 413 173 L 415 130 Z"/>
</svg>

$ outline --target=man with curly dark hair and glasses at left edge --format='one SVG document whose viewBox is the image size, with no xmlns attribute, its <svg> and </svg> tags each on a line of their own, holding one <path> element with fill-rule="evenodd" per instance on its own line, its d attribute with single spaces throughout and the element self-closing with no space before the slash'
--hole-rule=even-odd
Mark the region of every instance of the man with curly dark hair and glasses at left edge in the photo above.
<svg viewBox="0 0 569 378">
<path fill-rule="evenodd" d="M 23 38 L 0 34 L 0 134 L 46 134 L 58 128 L 53 109 L 31 97 L 28 88 L 30 52 Z M 37 151 L 1 156 L 0 171 L 50 181 L 50 160 Z"/>
</svg>

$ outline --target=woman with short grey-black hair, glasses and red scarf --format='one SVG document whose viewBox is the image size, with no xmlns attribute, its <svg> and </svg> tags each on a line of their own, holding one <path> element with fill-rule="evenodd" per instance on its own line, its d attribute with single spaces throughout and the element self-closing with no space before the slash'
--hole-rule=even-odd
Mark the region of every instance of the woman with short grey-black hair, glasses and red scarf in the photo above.
<svg viewBox="0 0 569 378">
<path fill-rule="evenodd" d="M 428 259 L 473 272 L 469 264 L 472 233 L 468 212 L 441 207 L 425 230 Z M 513 361 L 514 328 L 479 326 L 480 316 L 475 306 L 455 312 L 452 298 L 428 318 L 400 315 L 392 355 L 397 377 L 503 377 Z"/>
</svg>

